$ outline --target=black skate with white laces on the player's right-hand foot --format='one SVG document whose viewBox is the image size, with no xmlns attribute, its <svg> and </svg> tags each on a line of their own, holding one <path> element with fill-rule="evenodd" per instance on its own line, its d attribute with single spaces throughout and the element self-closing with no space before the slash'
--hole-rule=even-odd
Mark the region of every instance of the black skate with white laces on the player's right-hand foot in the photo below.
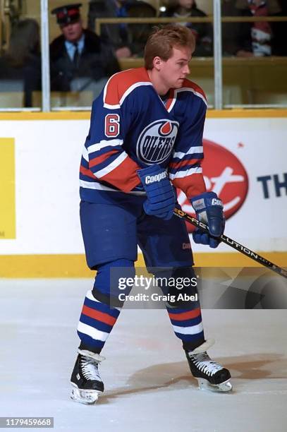
<svg viewBox="0 0 287 432">
<path fill-rule="evenodd" d="M 200 389 L 229 392 L 232 390 L 232 385 L 228 369 L 210 359 L 206 352 L 206 349 L 213 344 L 213 340 L 207 340 L 193 351 L 185 351 L 190 371 L 197 378 Z"/>
</svg>

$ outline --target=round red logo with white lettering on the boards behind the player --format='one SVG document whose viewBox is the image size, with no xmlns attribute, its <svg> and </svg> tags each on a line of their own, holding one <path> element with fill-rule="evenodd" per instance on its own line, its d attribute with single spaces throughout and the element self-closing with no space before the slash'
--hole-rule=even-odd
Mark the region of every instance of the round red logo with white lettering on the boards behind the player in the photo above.
<svg viewBox="0 0 287 432">
<path fill-rule="evenodd" d="M 238 157 L 230 150 L 209 140 L 203 140 L 204 160 L 202 169 L 207 191 L 217 193 L 224 203 L 226 219 L 234 215 L 243 205 L 248 193 L 248 174 Z M 178 203 L 183 211 L 195 216 L 195 211 L 183 191 L 178 190 Z M 193 227 L 187 224 L 188 232 Z"/>
</svg>

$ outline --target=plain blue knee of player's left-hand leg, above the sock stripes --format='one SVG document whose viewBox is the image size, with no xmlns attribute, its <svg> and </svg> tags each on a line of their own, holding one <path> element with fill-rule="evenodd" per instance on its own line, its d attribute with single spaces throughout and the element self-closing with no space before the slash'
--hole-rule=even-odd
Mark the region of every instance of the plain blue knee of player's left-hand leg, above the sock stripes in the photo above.
<svg viewBox="0 0 287 432">
<path fill-rule="evenodd" d="M 126 286 L 127 278 L 135 277 L 135 265 L 132 260 L 125 258 L 110 261 L 97 267 L 92 295 L 104 304 L 121 307 L 123 302 L 118 295 L 128 295 L 132 287 Z"/>
</svg>

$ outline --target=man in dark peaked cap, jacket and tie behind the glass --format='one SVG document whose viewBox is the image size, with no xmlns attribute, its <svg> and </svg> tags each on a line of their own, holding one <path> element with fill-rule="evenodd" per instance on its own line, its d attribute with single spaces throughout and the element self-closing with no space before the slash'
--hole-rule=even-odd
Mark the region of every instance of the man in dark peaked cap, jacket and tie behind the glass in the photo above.
<svg viewBox="0 0 287 432">
<path fill-rule="evenodd" d="M 81 4 L 55 8 L 62 35 L 50 44 L 51 90 L 92 90 L 97 97 L 109 76 L 120 70 L 111 44 L 83 28 Z"/>
</svg>

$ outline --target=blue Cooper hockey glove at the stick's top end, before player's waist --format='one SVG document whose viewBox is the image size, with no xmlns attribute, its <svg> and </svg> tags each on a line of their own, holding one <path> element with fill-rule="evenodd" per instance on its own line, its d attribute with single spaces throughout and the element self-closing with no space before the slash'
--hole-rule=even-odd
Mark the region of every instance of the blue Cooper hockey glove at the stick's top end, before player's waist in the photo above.
<svg viewBox="0 0 287 432">
<path fill-rule="evenodd" d="M 147 215 L 161 217 L 164 220 L 171 219 L 176 206 L 176 196 L 166 170 L 154 164 L 138 169 L 138 176 L 147 193 L 143 205 Z"/>
</svg>

